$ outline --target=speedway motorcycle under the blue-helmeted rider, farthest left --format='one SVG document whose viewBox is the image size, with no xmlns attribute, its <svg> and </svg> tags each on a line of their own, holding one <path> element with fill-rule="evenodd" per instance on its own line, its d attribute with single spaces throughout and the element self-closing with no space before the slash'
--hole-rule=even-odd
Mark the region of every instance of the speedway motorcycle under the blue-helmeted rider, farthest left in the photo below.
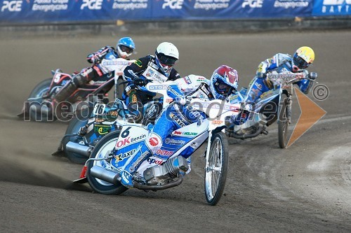
<svg viewBox="0 0 351 233">
<path fill-rule="evenodd" d="M 93 78 L 89 83 L 82 85 L 75 91 L 65 102 L 62 102 L 52 109 L 52 101 L 55 99 L 60 89 L 72 80 L 76 73 L 63 73 L 60 69 L 51 71 L 53 78 L 48 78 L 41 81 L 34 87 L 29 94 L 27 101 L 22 108 L 22 112 L 18 114 L 24 120 L 35 121 L 53 121 L 57 120 L 58 116 L 61 120 L 70 120 L 72 114 L 88 104 L 93 106 L 93 103 L 98 100 L 108 102 L 107 92 L 114 86 L 114 97 L 119 96 L 119 83 L 123 83 L 123 71 L 126 66 L 133 63 L 134 60 L 126 60 L 123 58 L 117 59 L 102 59 L 100 63 L 107 66 L 110 72 L 104 76 Z M 51 106 L 50 106 L 51 105 Z"/>
</svg>

